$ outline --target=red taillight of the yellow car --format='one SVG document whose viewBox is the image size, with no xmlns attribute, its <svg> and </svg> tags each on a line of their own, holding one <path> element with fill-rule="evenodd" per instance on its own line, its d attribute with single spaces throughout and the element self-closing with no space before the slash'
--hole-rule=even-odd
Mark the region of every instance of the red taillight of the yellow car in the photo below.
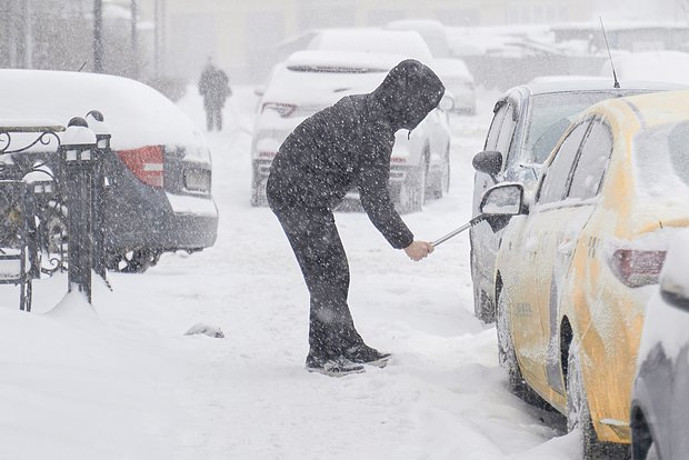
<svg viewBox="0 0 689 460">
<path fill-rule="evenodd" d="M 666 251 L 618 249 L 612 253 L 610 268 L 615 276 L 630 288 L 658 282 Z"/>
</svg>

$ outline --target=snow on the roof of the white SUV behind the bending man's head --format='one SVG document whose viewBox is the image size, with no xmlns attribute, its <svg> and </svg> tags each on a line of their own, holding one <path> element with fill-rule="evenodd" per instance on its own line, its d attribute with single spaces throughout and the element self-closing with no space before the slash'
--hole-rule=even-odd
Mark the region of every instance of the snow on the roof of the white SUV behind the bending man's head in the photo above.
<svg viewBox="0 0 689 460">
<path fill-rule="evenodd" d="M 430 49 L 415 31 L 377 29 L 324 29 L 309 43 L 310 50 L 392 53 L 431 63 Z"/>
</svg>

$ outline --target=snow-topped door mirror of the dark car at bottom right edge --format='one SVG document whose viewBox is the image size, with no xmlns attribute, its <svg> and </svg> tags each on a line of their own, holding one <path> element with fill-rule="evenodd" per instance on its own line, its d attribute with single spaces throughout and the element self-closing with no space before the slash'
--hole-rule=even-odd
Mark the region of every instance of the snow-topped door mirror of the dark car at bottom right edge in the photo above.
<svg viewBox="0 0 689 460">
<path fill-rule="evenodd" d="M 689 231 L 675 237 L 660 274 L 660 296 L 669 304 L 689 311 Z"/>
</svg>

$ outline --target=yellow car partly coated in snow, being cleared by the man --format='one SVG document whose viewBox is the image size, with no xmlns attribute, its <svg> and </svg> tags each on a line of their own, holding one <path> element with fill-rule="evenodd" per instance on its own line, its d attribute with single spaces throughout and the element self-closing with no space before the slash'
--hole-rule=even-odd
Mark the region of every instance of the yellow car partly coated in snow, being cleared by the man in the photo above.
<svg viewBox="0 0 689 460">
<path fill-rule="evenodd" d="M 526 198 L 498 253 L 500 361 L 512 391 L 581 428 L 585 458 L 623 457 L 643 309 L 689 227 L 689 91 L 592 106 Z"/>
</svg>

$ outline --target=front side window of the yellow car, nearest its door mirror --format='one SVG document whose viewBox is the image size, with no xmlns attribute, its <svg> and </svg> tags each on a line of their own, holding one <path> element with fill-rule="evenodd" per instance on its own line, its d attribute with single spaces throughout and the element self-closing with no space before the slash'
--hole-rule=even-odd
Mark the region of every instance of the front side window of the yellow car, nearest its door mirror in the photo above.
<svg viewBox="0 0 689 460">
<path fill-rule="evenodd" d="M 590 124 L 590 120 L 577 126 L 565 138 L 558 149 L 555 159 L 543 173 L 541 187 L 538 193 L 539 203 L 550 203 L 565 199 L 566 188 L 568 186 L 569 173 L 572 163 L 577 159 L 581 140 L 586 134 Z"/>
</svg>

